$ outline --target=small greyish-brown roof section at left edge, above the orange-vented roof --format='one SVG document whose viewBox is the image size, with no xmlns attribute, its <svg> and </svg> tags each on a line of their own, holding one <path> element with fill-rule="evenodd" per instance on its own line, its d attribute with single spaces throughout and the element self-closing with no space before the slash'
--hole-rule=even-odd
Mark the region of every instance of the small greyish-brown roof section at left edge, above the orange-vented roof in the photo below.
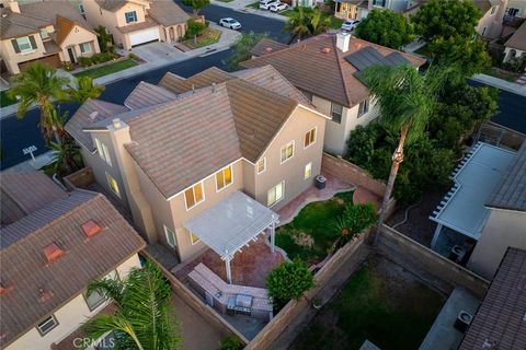
<svg viewBox="0 0 526 350">
<path fill-rule="evenodd" d="M 52 201 L 67 197 L 60 187 L 41 172 L 2 175 L 0 194 L 3 225 L 13 223 Z"/>
</svg>

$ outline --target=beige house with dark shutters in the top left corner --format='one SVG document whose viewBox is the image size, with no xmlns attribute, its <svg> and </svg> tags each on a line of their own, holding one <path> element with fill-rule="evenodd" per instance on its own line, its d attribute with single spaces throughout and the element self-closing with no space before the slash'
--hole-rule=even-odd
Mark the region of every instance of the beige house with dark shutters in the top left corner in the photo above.
<svg viewBox="0 0 526 350">
<path fill-rule="evenodd" d="M 69 2 L 1 4 L 0 56 L 11 74 L 36 60 L 60 67 L 100 52 L 96 34 Z"/>
</svg>

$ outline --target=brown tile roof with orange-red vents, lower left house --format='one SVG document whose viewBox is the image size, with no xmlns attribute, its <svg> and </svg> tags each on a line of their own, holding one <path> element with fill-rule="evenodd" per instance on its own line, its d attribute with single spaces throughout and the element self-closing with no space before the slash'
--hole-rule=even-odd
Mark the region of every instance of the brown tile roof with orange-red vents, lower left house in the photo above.
<svg viewBox="0 0 526 350">
<path fill-rule="evenodd" d="M 103 230 L 88 240 L 81 225 L 89 220 Z M 1 229 L 0 237 L 2 348 L 145 247 L 103 195 L 79 189 Z M 49 244 L 66 254 L 48 262 Z"/>
</svg>

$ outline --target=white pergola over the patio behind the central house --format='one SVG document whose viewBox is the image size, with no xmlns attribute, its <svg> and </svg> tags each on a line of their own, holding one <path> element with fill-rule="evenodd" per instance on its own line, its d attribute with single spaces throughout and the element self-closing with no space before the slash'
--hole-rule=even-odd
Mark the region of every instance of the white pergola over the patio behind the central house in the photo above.
<svg viewBox="0 0 526 350">
<path fill-rule="evenodd" d="M 232 283 L 230 261 L 233 255 L 266 230 L 271 232 L 271 248 L 274 252 L 275 228 L 278 222 L 278 214 L 237 190 L 183 226 L 219 254 L 221 260 L 225 260 L 228 283 Z"/>
</svg>

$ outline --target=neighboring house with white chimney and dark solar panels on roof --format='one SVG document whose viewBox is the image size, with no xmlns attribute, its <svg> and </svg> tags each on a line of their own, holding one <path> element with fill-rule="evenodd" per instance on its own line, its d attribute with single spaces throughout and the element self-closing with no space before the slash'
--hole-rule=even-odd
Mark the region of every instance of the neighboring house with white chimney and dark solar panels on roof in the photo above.
<svg viewBox="0 0 526 350">
<path fill-rule="evenodd" d="M 373 65 L 422 66 L 425 60 L 346 33 L 323 34 L 283 48 L 265 39 L 252 50 L 260 56 L 241 63 L 253 68 L 271 65 L 317 109 L 332 120 L 325 127 L 324 150 L 344 155 L 351 130 L 366 126 L 378 116 L 378 108 L 356 74 Z"/>
</svg>

